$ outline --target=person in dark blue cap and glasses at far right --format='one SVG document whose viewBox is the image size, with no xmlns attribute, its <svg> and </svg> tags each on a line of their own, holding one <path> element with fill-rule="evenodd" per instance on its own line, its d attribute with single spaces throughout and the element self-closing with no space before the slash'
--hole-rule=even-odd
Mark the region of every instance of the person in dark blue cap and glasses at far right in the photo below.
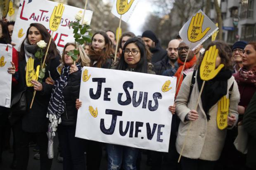
<svg viewBox="0 0 256 170">
<path fill-rule="evenodd" d="M 242 54 L 244 51 L 244 47 L 248 44 L 247 41 L 237 41 L 232 47 L 232 58 L 235 62 L 234 73 L 237 72 L 242 65 Z"/>
</svg>

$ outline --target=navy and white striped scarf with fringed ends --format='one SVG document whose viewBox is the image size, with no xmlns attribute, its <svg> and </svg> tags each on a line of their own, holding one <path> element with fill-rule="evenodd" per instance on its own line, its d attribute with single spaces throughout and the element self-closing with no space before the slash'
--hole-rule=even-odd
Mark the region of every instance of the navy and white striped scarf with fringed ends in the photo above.
<svg viewBox="0 0 256 170">
<path fill-rule="evenodd" d="M 78 70 L 81 70 L 81 64 L 76 63 L 76 67 Z M 48 105 L 47 111 L 47 118 L 49 118 L 50 122 L 52 123 L 52 135 L 55 136 L 55 131 L 57 130 L 57 126 L 61 123 L 61 115 L 65 111 L 65 102 L 63 91 L 67 84 L 67 80 L 69 78 L 69 69 L 70 66 L 64 66 L 62 69 L 62 74 L 60 75 L 59 79 L 56 80 L 54 87 L 52 88 L 52 94 L 50 98 L 50 102 Z"/>
</svg>

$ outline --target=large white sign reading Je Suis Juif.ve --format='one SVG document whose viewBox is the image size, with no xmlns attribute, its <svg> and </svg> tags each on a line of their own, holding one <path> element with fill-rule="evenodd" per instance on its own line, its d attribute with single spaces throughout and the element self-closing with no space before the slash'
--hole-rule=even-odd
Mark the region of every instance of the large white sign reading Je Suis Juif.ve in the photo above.
<svg viewBox="0 0 256 170">
<path fill-rule="evenodd" d="M 84 67 L 76 137 L 168 152 L 176 77 Z"/>
</svg>

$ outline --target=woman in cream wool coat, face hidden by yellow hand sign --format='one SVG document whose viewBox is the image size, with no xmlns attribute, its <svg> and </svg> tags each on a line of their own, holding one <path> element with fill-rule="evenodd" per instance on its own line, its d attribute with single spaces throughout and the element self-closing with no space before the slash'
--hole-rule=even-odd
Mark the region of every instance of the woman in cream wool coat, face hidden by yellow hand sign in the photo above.
<svg viewBox="0 0 256 170">
<path fill-rule="evenodd" d="M 185 77 L 176 99 L 176 112 L 181 120 L 176 148 L 179 154 L 182 152 L 183 170 L 213 170 L 224 146 L 226 128 L 234 127 L 238 117 L 240 96 L 232 77 L 231 49 L 224 42 L 212 42 L 206 50 L 204 63 L 199 58 L 195 78 L 192 73 Z M 202 71 L 200 66 L 205 63 Z M 205 82 L 201 73 L 210 66 L 213 71 L 208 76 L 213 78 Z M 192 81 L 195 83 L 190 88 Z"/>
</svg>

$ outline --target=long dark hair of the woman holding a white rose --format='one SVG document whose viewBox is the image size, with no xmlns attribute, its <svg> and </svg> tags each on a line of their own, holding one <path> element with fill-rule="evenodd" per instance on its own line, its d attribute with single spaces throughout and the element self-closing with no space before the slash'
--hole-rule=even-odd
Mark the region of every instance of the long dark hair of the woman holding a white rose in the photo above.
<svg viewBox="0 0 256 170">
<path fill-rule="evenodd" d="M 43 37 L 42 40 L 44 40 L 44 41 L 47 43 L 47 45 L 48 45 L 49 42 L 50 42 L 51 35 L 50 35 L 50 33 L 48 33 L 48 31 L 47 31 L 47 29 L 45 28 L 45 26 L 43 26 L 43 25 L 40 24 L 40 23 L 31 23 L 30 26 L 28 27 L 28 30 L 27 30 L 27 33 L 26 33 L 26 38 L 25 38 L 25 39 L 23 40 L 23 42 L 21 43 L 21 50 L 20 50 L 20 52 L 19 52 L 19 60 L 23 60 L 23 59 L 25 58 L 24 42 L 25 42 L 26 40 L 28 40 L 29 29 L 30 29 L 32 26 L 33 26 L 33 27 L 36 27 L 36 28 L 39 30 L 40 34 L 41 34 L 42 37 Z M 29 42 L 28 42 L 28 43 L 29 43 Z M 44 50 L 45 50 L 44 52 L 46 52 L 46 49 L 47 49 L 47 48 L 44 49 Z M 48 55 L 46 56 L 46 57 L 47 57 L 47 58 L 46 58 L 46 62 L 48 62 L 49 59 L 55 58 L 56 56 L 59 56 L 59 58 L 60 58 L 59 50 L 57 49 L 57 46 L 56 46 L 54 40 L 51 40 L 51 44 L 50 44 L 50 47 L 49 47 Z"/>
</svg>

